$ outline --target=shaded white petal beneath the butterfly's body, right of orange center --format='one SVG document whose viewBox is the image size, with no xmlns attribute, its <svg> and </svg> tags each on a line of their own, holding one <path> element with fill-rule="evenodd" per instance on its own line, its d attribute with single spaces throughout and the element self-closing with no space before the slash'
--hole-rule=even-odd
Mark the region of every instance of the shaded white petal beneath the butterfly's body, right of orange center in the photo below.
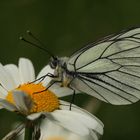
<svg viewBox="0 0 140 140">
<path fill-rule="evenodd" d="M 61 87 L 60 85 L 53 84 L 49 90 L 51 90 L 57 97 L 64 97 L 73 94 L 73 90 L 68 87 Z"/>
</svg>

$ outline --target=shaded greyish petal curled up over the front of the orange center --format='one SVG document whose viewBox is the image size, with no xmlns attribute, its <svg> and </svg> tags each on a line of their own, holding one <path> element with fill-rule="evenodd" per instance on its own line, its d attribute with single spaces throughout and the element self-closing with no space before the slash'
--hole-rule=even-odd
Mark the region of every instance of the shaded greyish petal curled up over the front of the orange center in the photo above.
<svg viewBox="0 0 140 140">
<path fill-rule="evenodd" d="M 28 114 L 32 108 L 33 102 L 29 95 L 20 90 L 13 91 L 15 106 L 24 114 Z"/>
</svg>

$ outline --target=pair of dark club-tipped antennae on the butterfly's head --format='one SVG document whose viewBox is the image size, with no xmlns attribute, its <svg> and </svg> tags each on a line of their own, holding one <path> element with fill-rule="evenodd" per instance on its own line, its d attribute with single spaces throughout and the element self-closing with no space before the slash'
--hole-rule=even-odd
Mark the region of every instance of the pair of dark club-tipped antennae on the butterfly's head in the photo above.
<svg viewBox="0 0 140 140">
<path fill-rule="evenodd" d="M 37 39 L 29 30 L 27 31 L 27 33 L 33 38 L 35 39 L 36 41 L 38 41 L 40 43 L 40 45 L 38 44 L 35 44 L 27 39 L 25 39 L 24 37 L 20 36 L 19 39 L 30 44 L 31 46 L 34 46 L 34 47 L 37 47 L 39 48 L 40 50 L 44 51 L 44 52 L 47 52 L 51 57 L 55 58 L 55 56 L 50 52 L 48 51 L 47 49 L 45 49 L 44 47 L 42 46 L 45 46 L 39 39 Z"/>
</svg>

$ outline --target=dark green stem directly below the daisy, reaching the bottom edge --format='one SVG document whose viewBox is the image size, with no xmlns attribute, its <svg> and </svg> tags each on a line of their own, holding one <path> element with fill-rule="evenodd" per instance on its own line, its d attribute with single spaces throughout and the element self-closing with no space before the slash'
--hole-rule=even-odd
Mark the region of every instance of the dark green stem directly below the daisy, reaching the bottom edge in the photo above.
<svg viewBox="0 0 140 140">
<path fill-rule="evenodd" d="M 34 131 L 34 124 L 32 121 L 27 120 L 25 124 L 25 134 L 24 134 L 24 140 L 32 140 L 32 134 Z"/>
</svg>

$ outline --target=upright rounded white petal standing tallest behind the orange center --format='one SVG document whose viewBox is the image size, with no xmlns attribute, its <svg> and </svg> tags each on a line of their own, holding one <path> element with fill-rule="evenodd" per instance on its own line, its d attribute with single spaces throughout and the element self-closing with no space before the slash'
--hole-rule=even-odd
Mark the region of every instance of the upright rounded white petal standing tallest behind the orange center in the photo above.
<svg viewBox="0 0 140 140">
<path fill-rule="evenodd" d="M 27 58 L 19 59 L 19 74 L 22 83 L 35 80 L 35 71 L 32 62 Z"/>
</svg>

